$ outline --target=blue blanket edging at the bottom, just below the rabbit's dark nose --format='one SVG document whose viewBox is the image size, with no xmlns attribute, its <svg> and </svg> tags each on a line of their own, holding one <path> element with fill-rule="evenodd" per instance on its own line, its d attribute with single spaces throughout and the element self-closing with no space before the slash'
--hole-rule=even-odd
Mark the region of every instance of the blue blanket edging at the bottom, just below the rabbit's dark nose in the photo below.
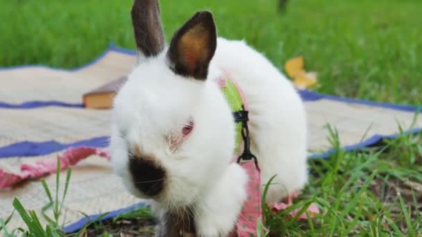
<svg viewBox="0 0 422 237">
<path fill-rule="evenodd" d="M 135 211 L 136 209 L 139 209 L 141 207 L 149 207 L 149 204 L 147 204 L 146 202 L 139 202 L 137 204 L 133 204 L 132 206 L 126 207 L 124 209 L 110 211 L 107 215 L 103 216 L 103 218 L 99 218 L 101 214 L 96 214 L 89 217 L 81 218 L 81 220 L 78 220 L 77 222 L 74 222 L 73 224 L 68 225 L 67 227 L 64 227 L 62 231 L 64 231 L 65 234 L 74 233 L 82 229 L 85 226 L 85 224 L 96 220 L 96 218 L 99 218 L 99 220 L 101 221 L 110 220 L 112 218 L 115 218 L 116 216 L 119 216 L 121 213 Z"/>
</svg>

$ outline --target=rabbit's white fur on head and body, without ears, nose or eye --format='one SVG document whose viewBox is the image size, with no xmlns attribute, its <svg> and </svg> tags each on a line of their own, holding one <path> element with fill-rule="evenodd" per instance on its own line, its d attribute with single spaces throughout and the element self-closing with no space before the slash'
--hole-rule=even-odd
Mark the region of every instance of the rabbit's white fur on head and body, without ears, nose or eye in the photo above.
<svg viewBox="0 0 422 237">
<path fill-rule="evenodd" d="M 230 164 L 234 122 L 217 86 L 220 67 L 239 82 L 249 108 L 251 150 L 261 167 L 269 204 L 280 201 L 307 182 L 305 111 L 293 85 L 263 55 L 242 41 L 219 38 L 205 81 L 177 76 L 165 53 L 145 59 L 115 97 L 112 111 L 112 164 L 128 190 L 128 148 L 142 147 L 167 172 L 167 186 L 151 200 L 156 213 L 191 207 L 199 236 L 226 236 L 246 198 L 247 175 Z M 194 118 L 194 130 L 176 152 L 164 136 Z M 263 189 L 263 188 L 262 188 Z"/>
</svg>

